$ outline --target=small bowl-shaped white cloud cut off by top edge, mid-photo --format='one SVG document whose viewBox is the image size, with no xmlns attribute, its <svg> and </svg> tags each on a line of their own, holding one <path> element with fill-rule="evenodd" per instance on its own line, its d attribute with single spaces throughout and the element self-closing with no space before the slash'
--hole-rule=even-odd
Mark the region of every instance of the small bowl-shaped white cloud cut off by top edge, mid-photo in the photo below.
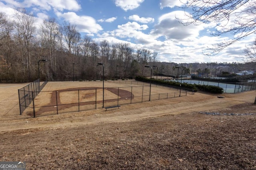
<svg viewBox="0 0 256 170">
<path fill-rule="evenodd" d="M 119 6 L 124 11 L 134 10 L 140 6 L 144 0 L 115 0 L 116 6 Z"/>
</svg>

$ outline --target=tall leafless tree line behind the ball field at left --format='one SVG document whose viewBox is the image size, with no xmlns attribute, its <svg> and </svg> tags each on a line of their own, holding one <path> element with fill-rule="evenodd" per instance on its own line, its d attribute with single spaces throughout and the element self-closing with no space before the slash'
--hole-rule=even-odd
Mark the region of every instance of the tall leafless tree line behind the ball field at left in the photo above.
<svg viewBox="0 0 256 170">
<path fill-rule="evenodd" d="M 96 43 L 82 37 L 76 25 L 59 24 L 55 18 L 36 25 L 24 9 L 17 10 L 15 19 L 0 13 L 0 81 L 28 82 L 39 76 L 72 80 L 73 74 L 76 80 L 95 80 L 103 72 L 97 63 L 104 63 L 105 78 L 132 78 L 145 74 L 144 66 L 156 61 L 157 53 L 150 49 Z"/>
</svg>

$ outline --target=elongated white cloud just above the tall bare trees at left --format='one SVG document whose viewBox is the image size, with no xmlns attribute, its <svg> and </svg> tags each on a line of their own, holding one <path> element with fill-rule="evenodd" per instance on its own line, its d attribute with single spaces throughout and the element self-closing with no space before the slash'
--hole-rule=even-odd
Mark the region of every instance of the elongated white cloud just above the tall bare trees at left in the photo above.
<svg viewBox="0 0 256 170">
<path fill-rule="evenodd" d="M 97 33 L 102 30 L 102 27 L 96 23 L 94 18 L 90 16 L 78 16 L 74 12 L 66 12 L 61 14 L 57 12 L 58 17 L 64 18 L 66 21 L 70 22 L 73 25 L 76 25 L 76 28 L 80 32 L 84 33 Z"/>
</svg>

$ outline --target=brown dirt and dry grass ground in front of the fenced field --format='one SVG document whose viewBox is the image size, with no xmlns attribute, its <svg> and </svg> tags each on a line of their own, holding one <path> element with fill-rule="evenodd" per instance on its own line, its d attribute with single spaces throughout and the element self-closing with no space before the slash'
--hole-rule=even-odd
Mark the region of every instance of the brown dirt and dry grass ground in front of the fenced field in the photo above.
<svg viewBox="0 0 256 170">
<path fill-rule="evenodd" d="M 16 112 L 7 89 L 0 161 L 27 169 L 256 169 L 255 91 L 30 118 Z"/>
</svg>

